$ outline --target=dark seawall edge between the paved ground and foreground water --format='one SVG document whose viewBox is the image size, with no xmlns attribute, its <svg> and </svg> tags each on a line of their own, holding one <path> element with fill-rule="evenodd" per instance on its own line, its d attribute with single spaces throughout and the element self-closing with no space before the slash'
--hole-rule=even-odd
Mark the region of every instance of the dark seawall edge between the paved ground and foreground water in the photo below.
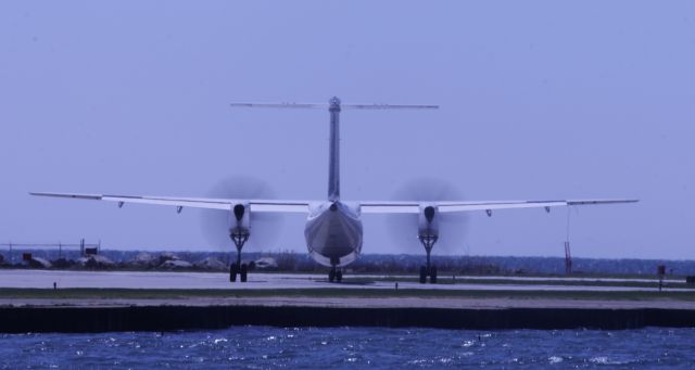
<svg viewBox="0 0 695 370">
<path fill-rule="evenodd" d="M 636 329 L 695 327 L 695 310 L 664 308 L 354 308 L 318 306 L 2 307 L 0 332 L 106 332 L 276 327 Z"/>
</svg>

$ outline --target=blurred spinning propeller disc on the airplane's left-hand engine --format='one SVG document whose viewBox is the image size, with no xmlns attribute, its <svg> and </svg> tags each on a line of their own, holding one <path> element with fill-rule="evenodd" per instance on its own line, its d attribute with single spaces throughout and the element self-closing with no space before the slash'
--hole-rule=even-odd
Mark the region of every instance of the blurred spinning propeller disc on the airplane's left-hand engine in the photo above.
<svg viewBox="0 0 695 370">
<path fill-rule="evenodd" d="M 219 180 L 207 192 L 208 197 L 233 200 L 271 200 L 275 194 L 270 186 L 261 179 L 248 176 L 230 176 Z M 222 252 L 235 252 L 229 239 L 229 213 L 206 209 L 201 216 L 201 229 L 207 242 Z M 273 250 L 283 225 L 283 217 L 275 213 L 251 213 L 251 237 L 244 245 L 262 250 Z"/>
</svg>

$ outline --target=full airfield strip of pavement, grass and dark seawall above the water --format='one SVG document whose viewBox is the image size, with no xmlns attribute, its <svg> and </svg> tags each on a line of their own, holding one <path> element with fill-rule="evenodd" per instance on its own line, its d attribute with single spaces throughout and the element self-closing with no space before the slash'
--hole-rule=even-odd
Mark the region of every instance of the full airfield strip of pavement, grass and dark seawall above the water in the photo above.
<svg viewBox="0 0 695 370">
<path fill-rule="evenodd" d="M 403 278 L 410 280 L 397 281 L 396 289 L 393 279 Z M 0 314 L 11 319 L 0 320 L 0 332 L 695 327 L 694 290 L 659 293 L 656 281 L 645 285 L 648 279 L 441 277 L 441 283 L 420 284 L 414 278 L 359 275 L 329 283 L 324 275 L 252 273 L 245 283 L 230 283 L 219 272 L 4 269 Z"/>
</svg>

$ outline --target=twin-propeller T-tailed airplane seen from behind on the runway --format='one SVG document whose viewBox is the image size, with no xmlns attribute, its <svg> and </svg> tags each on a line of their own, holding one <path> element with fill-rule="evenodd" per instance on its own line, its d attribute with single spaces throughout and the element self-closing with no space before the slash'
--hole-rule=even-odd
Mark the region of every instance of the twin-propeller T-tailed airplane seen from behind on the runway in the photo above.
<svg viewBox="0 0 695 370">
<path fill-rule="evenodd" d="M 393 105 L 393 104 L 341 104 L 333 97 L 328 104 L 298 103 L 231 103 L 232 107 L 282 107 L 325 109 L 330 114 L 330 144 L 328 166 L 328 196 L 323 200 L 255 200 L 255 199 L 203 199 L 140 195 L 108 195 L 79 193 L 30 192 L 31 195 L 68 197 L 116 202 L 118 207 L 126 203 L 167 205 L 180 213 L 185 207 L 222 209 L 228 212 L 229 238 L 237 247 L 237 260 L 229 266 L 229 280 L 237 276 L 241 282 L 248 279 L 248 266 L 241 263 L 241 251 L 251 237 L 251 214 L 254 213 L 302 213 L 307 215 L 304 237 L 311 257 L 329 267 L 328 280 L 341 282 L 342 268 L 358 258 L 363 245 L 362 214 L 413 214 L 417 215 L 417 238 L 425 247 L 426 264 L 420 266 L 419 281 L 437 282 L 437 266 L 430 260 L 432 247 L 439 239 L 439 219 L 451 213 L 484 210 L 488 216 L 496 209 L 552 207 L 634 203 L 637 200 L 551 200 L 551 201 L 343 201 L 340 194 L 340 112 L 343 109 L 392 110 L 392 109 L 439 109 L 438 105 Z"/>
</svg>

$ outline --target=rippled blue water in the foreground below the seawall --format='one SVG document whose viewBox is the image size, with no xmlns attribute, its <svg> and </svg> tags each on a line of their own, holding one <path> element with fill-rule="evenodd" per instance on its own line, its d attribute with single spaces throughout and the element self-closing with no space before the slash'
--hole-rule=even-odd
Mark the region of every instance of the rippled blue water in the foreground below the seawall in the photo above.
<svg viewBox="0 0 695 370">
<path fill-rule="evenodd" d="M 455 331 L 235 327 L 164 334 L 0 337 L 3 369 L 695 367 L 695 329 Z"/>
</svg>

